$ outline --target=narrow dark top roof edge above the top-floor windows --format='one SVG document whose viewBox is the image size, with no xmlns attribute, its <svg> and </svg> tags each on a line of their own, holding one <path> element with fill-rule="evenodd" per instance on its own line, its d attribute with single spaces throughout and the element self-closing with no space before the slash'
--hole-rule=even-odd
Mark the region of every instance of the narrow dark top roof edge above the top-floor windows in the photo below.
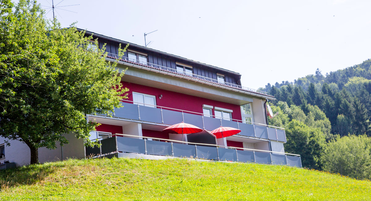
<svg viewBox="0 0 371 201">
<path fill-rule="evenodd" d="M 116 42 L 119 42 L 119 43 L 127 43 L 127 44 L 130 44 L 131 46 L 134 46 L 134 47 L 137 47 L 137 48 L 142 48 L 142 49 L 145 49 L 145 50 L 148 50 L 148 51 L 154 51 L 154 52 L 161 53 L 161 54 L 165 54 L 165 55 L 168 55 L 168 56 L 171 56 L 171 57 L 180 58 L 180 59 L 183 59 L 183 60 L 190 61 L 190 62 L 192 62 L 192 63 L 201 64 L 201 65 L 204 65 L 204 66 L 207 66 L 207 67 L 211 67 L 211 68 L 214 68 L 214 69 L 217 69 L 217 70 L 221 70 L 221 71 L 225 71 L 225 72 L 228 72 L 228 73 L 232 73 L 232 74 L 235 74 L 235 75 L 241 77 L 241 74 L 236 73 L 236 72 L 234 72 L 234 71 L 230 71 L 230 70 L 224 69 L 224 68 L 219 68 L 219 67 L 216 67 L 216 66 L 211 66 L 211 65 L 209 65 L 209 64 L 205 64 L 205 63 L 201 63 L 201 62 L 198 62 L 198 61 L 194 61 L 194 60 L 191 60 L 191 59 L 188 59 L 188 58 L 184 58 L 184 57 L 176 56 L 176 55 L 174 55 L 174 54 L 169 54 L 169 53 L 166 53 L 166 52 L 163 52 L 163 51 L 160 51 L 160 50 L 154 50 L 154 49 L 152 49 L 152 48 L 148 48 L 148 47 L 140 46 L 140 45 L 137 45 L 137 44 L 134 44 L 134 43 L 129 43 L 129 42 L 127 42 L 127 41 L 123 41 L 123 40 L 119 40 L 119 39 L 116 39 L 116 38 L 112 38 L 112 37 L 104 36 L 104 35 L 102 35 L 102 34 L 97 34 L 97 33 L 94 33 L 94 32 L 92 32 L 92 31 L 87 31 L 87 30 L 79 29 L 79 28 L 77 28 L 77 30 L 79 30 L 79 31 L 86 31 L 86 33 L 88 33 L 88 34 L 93 34 L 94 36 L 97 36 L 97 37 L 99 37 L 99 38 L 104 38 L 104 39 L 112 40 L 112 41 L 116 41 Z"/>
</svg>

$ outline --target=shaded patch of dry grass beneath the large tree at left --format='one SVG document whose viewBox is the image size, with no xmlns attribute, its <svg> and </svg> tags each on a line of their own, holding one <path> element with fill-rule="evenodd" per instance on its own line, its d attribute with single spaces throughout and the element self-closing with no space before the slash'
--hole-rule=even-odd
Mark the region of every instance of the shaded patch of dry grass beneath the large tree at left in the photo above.
<svg viewBox="0 0 371 201">
<path fill-rule="evenodd" d="M 64 164 L 37 164 L 0 170 L 0 191 L 18 185 L 35 184 L 64 166 Z"/>
</svg>

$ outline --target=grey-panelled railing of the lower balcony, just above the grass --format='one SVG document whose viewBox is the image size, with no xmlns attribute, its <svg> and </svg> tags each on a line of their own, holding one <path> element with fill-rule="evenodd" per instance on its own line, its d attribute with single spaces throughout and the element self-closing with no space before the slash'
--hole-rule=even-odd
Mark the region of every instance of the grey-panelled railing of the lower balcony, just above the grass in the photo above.
<svg viewBox="0 0 371 201">
<path fill-rule="evenodd" d="M 100 157 L 115 153 L 136 153 L 302 167 L 301 157 L 298 154 L 227 147 L 215 144 L 190 143 L 178 140 L 126 134 L 114 134 L 110 135 L 109 138 L 105 136 L 95 140 L 99 140 L 100 146 L 93 148 L 85 147 L 86 156 Z"/>
</svg>

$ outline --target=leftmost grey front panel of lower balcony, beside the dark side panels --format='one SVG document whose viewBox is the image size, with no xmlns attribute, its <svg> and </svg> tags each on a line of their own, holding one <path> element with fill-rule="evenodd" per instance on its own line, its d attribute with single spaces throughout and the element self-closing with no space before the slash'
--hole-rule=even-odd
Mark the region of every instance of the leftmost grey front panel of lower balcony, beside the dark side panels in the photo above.
<svg viewBox="0 0 371 201">
<path fill-rule="evenodd" d="M 145 154 L 144 140 L 128 137 L 117 137 L 118 151 Z"/>
</svg>

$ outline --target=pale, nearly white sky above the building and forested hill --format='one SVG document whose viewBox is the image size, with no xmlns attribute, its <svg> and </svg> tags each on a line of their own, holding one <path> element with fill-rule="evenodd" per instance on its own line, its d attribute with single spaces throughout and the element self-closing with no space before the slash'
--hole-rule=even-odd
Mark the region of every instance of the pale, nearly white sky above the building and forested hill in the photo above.
<svg viewBox="0 0 371 201">
<path fill-rule="evenodd" d="M 235 71 L 255 89 L 371 58 L 370 0 L 60 1 L 63 27 L 142 46 L 158 30 L 148 47 Z M 38 2 L 49 11 L 52 0 Z"/>
</svg>

